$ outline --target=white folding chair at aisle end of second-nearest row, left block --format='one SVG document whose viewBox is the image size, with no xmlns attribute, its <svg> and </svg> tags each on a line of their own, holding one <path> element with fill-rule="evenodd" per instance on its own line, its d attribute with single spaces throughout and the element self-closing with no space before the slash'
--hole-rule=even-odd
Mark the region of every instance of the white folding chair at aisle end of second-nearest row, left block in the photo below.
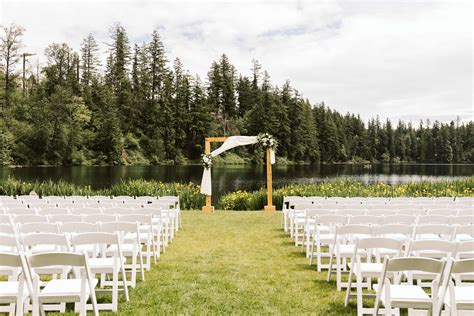
<svg viewBox="0 0 474 316">
<path fill-rule="evenodd" d="M 93 246 L 95 248 L 92 258 L 89 258 L 89 266 L 92 274 L 100 274 L 100 292 L 107 291 L 105 286 L 110 285 L 112 289 L 112 303 L 97 304 L 99 310 L 112 310 L 117 312 L 118 308 L 118 292 L 119 283 L 122 283 L 121 290 L 125 293 L 125 298 L 128 301 L 127 278 L 125 275 L 125 257 L 122 255 L 122 248 L 120 236 L 118 233 L 80 233 L 73 234 L 71 237 L 72 247 L 76 252 L 81 252 L 86 246 Z M 117 251 L 107 252 L 107 247 L 116 245 Z M 89 253 L 90 254 L 90 253 Z M 119 281 L 119 273 L 122 274 L 122 280 Z M 112 275 L 112 280 L 106 281 L 106 276 Z M 99 292 L 99 291 L 96 291 Z"/>
</svg>

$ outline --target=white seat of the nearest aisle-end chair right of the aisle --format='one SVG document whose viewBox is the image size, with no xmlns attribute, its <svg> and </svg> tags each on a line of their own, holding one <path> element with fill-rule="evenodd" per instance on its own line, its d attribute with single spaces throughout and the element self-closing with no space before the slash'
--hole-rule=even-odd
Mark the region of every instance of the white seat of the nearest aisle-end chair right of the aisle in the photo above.
<svg viewBox="0 0 474 316">
<path fill-rule="evenodd" d="M 392 308 L 431 308 L 432 301 L 428 294 L 416 285 L 393 285 L 390 286 L 390 304 Z M 374 284 L 374 290 L 378 292 L 378 284 Z M 381 293 L 381 301 L 385 304 L 385 289 Z"/>
</svg>

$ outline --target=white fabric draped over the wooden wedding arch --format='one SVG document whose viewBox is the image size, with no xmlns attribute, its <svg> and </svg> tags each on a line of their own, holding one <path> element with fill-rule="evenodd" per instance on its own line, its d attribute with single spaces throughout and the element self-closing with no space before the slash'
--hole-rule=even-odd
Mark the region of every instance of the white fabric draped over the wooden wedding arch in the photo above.
<svg viewBox="0 0 474 316">
<path fill-rule="evenodd" d="M 257 136 L 230 136 L 219 148 L 211 152 L 211 156 L 216 157 L 234 147 L 252 145 L 257 142 Z M 275 163 L 275 151 L 273 149 L 270 149 L 270 163 Z M 211 168 L 204 168 L 201 180 L 201 193 L 212 195 Z"/>
</svg>

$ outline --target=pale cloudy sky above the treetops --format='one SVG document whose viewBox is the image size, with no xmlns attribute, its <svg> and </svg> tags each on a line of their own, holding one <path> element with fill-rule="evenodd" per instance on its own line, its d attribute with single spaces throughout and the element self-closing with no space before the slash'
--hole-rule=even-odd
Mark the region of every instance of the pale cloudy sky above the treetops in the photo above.
<svg viewBox="0 0 474 316">
<path fill-rule="evenodd" d="M 168 59 L 204 80 L 222 53 L 243 75 L 256 59 L 313 104 L 418 123 L 473 120 L 473 10 L 468 0 L 0 0 L 0 24 L 23 26 L 41 64 L 49 44 L 79 49 L 89 33 L 105 56 L 116 22 L 131 43 L 157 29 Z"/>
</svg>

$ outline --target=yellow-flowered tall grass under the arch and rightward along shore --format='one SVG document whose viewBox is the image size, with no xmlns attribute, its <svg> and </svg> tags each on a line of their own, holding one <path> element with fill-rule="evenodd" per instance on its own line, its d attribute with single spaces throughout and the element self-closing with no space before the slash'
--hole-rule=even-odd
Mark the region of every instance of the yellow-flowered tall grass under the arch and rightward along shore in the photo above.
<svg viewBox="0 0 474 316">
<path fill-rule="evenodd" d="M 273 193 L 273 203 L 281 209 L 285 196 L 339 196 L 339 197 L 474 197 L 474 177 L 443 182 L 410 182 L 397 185 L 386 183 L 365 184 L 340 179 L 315 184 L 291 184 Z M 262 188 L 254 192 L 237 191 L 226 194 L 219 200 L 224 210 L 260 210 L 266 204 L 266 193 Z"/>
</svg>

